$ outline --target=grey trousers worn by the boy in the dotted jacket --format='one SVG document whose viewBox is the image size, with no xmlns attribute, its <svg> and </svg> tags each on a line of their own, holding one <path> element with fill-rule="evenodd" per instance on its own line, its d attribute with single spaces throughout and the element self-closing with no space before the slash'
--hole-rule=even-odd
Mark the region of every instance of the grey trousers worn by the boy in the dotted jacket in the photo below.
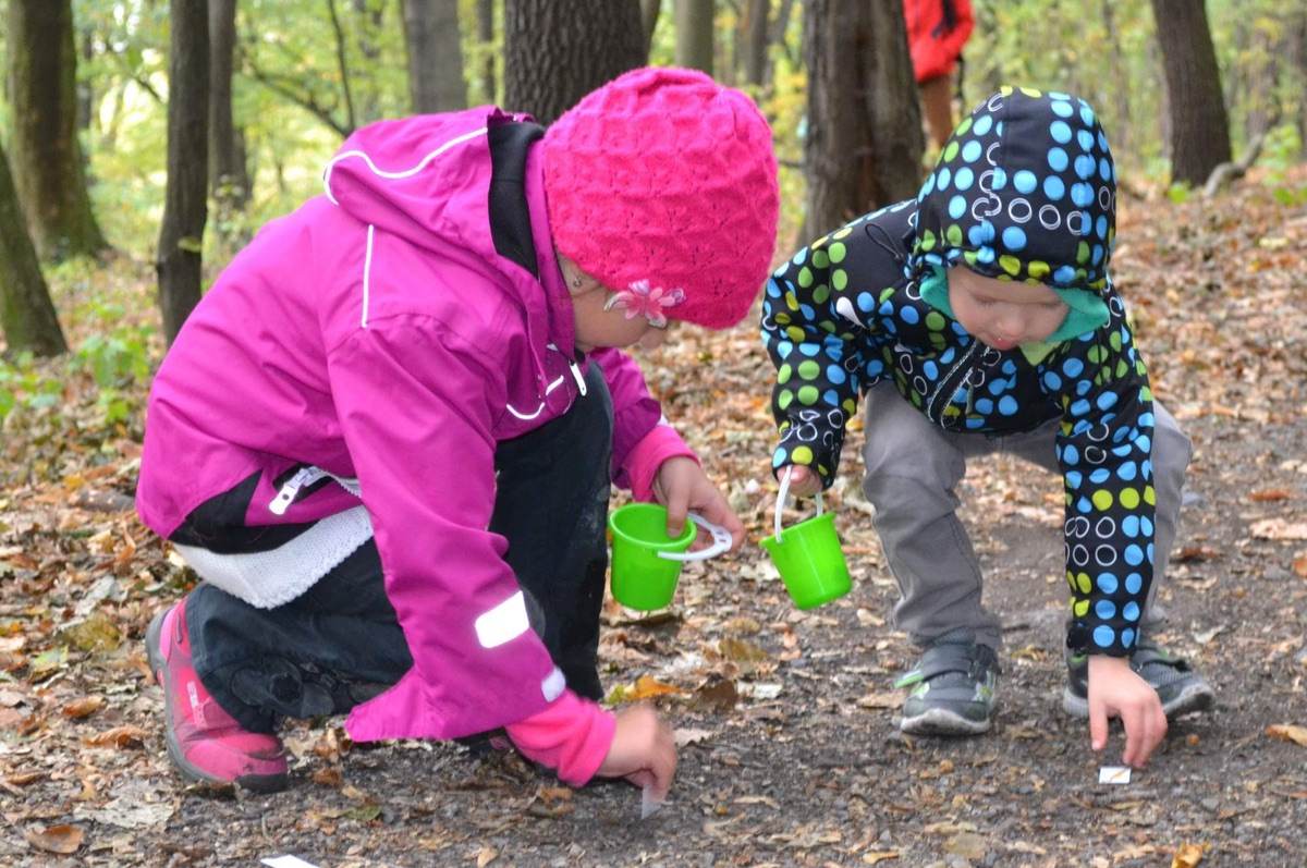
<svg viewBox="0 0 1307 868">
<path fill-rule="evenodd" d="M 967 627 L 976 642 L 997 650 L 1001 624 L 980 601 L 984 579 L 957 516 L 961 501 L 955 488 L 967 471 L 967 459 L 991 452 L 1008 452 L 1060 472 L 1053 454 L 1059 421 L 1004 437 L 945 431 L 903 400 L 891 383 L 867 393 L 865 413 L 863 492 L 876 507 L 876 531 L 899 587 L 894 625 L 918 644 Z M 1184 471 L 1193 452 L 1189 438 L 1155 400 L 1153 416 L 1157 540 L 1153 584 L 1141 620 L 1144 631 L 1165 617 L 1153 601 L 1175 542 Z"/>
</svg>

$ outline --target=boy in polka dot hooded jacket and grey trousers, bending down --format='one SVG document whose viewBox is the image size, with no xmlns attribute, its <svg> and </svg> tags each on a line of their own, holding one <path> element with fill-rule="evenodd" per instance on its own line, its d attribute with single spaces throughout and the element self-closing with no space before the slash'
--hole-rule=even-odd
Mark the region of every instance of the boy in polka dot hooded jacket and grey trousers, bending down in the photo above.
<svg viewBox="0 0 1307 868">
<path fill-rule="evenodd" d="M 829 488 L 865 401 L 863 489 L 923 648 L 906 732 L 984 732 L 1001 630 L 958 522 L 966 459 L 1009 451 L 1065 482 L 1070 586 L 1065 710 L 1125 728 L 1144 765 L 1168 716 L 1210 707 L 1188 664 L 1148 639 L 1175 539 L 1188 438 L 1153 397 L 1108 276 L 1116 184 L 1093 108 L 1004 88 L 954 129 L 915 200 L 817 239 L 767 285 L 778 369 L 774 471 Z"/>
</svg>

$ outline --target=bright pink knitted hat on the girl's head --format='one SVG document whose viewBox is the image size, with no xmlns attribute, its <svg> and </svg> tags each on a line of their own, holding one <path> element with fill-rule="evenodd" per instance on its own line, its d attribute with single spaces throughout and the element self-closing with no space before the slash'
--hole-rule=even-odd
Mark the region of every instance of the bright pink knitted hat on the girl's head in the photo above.
<svg viewBox="0 0 1307 868">
<path fill-rule="evenodd" d="M 744 93 L 693 69 L 627 72 L 545 133 L 558 251 L 673 319 L 725 328 L 771 267 L 779 193 L 771 129 Z"/>
</svg>

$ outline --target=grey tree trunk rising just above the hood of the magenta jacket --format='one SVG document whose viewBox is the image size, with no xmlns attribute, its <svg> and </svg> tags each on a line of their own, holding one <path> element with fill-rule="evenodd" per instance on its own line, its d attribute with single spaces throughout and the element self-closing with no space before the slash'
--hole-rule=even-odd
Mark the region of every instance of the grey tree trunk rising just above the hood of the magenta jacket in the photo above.
<svg viewBox="0 0 1307 868">
<path fill-rule="evenodd" d="M 403 0 L 403 5 L 413 111 L 465 108 L 459 0 Z"/>
</svg>

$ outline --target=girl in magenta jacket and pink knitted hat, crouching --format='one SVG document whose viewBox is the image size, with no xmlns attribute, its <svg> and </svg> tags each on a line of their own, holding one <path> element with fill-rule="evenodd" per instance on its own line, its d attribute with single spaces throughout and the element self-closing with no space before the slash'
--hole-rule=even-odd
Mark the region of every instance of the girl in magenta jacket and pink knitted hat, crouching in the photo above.
<svg viewBox="0 0 1307 868">
<path fill-rule="evenodd" d="M 567 783 L 661 797 L 656 715 L 601 709 L 610 482 L 740 520 L 618 348 L 724 328 L 766 280 L 771 133 L 638 69 L 548 132 L 481 107 L 354 133 L 154 380 L 142 520 L 203 583 L 146 633 L 184 775 L 276 790 L 277 724 L 356 741 L 503 727 Z"/>
</svg>

